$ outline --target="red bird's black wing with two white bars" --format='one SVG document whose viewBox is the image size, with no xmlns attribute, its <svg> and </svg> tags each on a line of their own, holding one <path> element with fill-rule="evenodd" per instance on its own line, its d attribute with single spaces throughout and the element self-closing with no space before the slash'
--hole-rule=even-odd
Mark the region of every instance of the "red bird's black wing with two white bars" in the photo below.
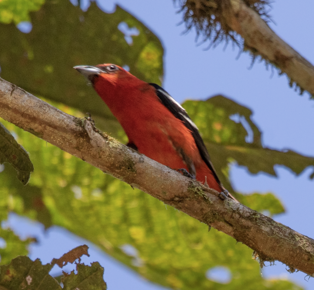
<svg viewBox="0 0 314 290">
<path fill-rule="evenodd" d="M 212 162 L 210 161 L 210 157 L 207 151 L 207 148 L 203 142 L 203 139 L 201 135 L 198 132 L 197 126 L 193 123 L 189 115 L 187 114 L 186 110 L 184 110 L 181 105 L 176 102 L 162 87 L 159 85 L 150 83 L 149 85 L 153 86 L 156 90 L 156 95 L 160 99 L 161 103 L 179 120 L 181 120 L 184 125 L 189 129 L 192 133 L 192 136 L 195 140 L 195 143 L 197 145 L 198 151 L 203 159 L 203 161 L 206 163 L 208 168 L 213 172 L 213 175 L 216 179 L 216 181 L 221 185 L 221 182 L 217 176 L 217 173 L 215 172 L 214 166 Z M 191 172 L 190 172 L 191 173 Z"/>
</svg>

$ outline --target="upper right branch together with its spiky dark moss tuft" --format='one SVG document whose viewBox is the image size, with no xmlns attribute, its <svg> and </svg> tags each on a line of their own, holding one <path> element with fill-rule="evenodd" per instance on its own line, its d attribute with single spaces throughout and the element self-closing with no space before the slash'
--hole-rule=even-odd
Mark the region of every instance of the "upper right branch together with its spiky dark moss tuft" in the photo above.
<svg viewBox="0 0 314 290">
<path fill-rule="evenodd" d="M 244 40 L 244 50 L 287 74 L 290 85 L 314 96 L 314 66 L 267 25 L 268 0 L 175 0 L 180 3 L 187 29 L 195 27 L 210 41 Z M 238 43 L 239 44 L 239 43 Z"/>
</svg>

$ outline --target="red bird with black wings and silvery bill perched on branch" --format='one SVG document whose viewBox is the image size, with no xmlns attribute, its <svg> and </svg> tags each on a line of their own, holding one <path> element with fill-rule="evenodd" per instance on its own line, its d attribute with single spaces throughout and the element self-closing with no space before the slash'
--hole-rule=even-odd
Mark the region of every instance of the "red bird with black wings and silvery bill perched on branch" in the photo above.
<svg viewBox="0 0 314 290">
<path fill-rule="evenodd" d="M 118 119 L 129 147 L 173 169 L 184 168 L 198 181 L 207 181 L 210 188 L 228 195 L 198 128 L 164 89 L 114 64 L 74 68 L 92 83 Z"/>
</svg>

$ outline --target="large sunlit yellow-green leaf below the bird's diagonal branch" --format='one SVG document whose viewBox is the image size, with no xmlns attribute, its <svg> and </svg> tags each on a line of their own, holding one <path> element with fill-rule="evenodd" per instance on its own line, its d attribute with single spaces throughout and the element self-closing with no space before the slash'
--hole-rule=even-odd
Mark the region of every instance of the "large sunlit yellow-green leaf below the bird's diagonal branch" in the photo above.
<svg viewBox="0 0 314 290">
<path fill-rule="evenodd" d="M 21 129 L 14 131 L 35 157 L 36 170 L 26 187 L 41 190 L 53 224 L 88 239 L 146 279 L 173 289 L 301 289 L 289 281 L 263 279 L 252 250 L 224 233 L 208 233 L 192 217 Z M 9 187 L 6 171 L 0 184 Z M 125 251 L 130 246 L 133 254 Z M 230 271 L 230 283 L 206 278 L 216 266 Z"/>
</svg>

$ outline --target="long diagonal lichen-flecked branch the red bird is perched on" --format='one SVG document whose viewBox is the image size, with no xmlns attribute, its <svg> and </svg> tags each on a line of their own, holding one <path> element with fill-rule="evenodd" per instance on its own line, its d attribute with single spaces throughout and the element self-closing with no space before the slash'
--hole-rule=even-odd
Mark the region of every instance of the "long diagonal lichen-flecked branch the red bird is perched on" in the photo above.
<svg viewBox="0 0 314 290">
<path fill-rule="evenodd" d="M 279 260 L 292 270 L 313 275 L 313 239 L 233 200 L 220 200 L 214 189 L 137 153 L 97 132 L 86 119 L 68 115 L 3 79 L 0 116 L 246 244 L 261 264 Z"/>
</svg>

